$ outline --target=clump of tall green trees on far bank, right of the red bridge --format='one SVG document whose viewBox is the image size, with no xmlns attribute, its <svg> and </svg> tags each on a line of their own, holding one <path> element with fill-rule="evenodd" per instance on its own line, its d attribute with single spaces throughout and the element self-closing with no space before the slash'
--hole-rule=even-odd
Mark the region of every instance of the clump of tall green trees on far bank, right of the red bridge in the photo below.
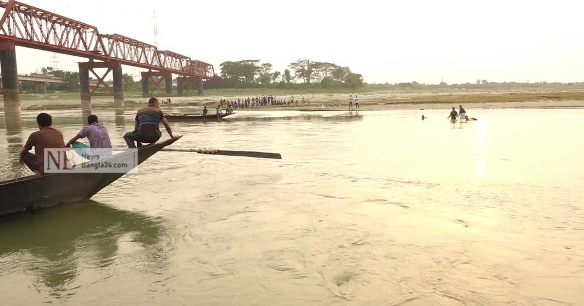
<svg viewBox="0 0 584 306">
<path fill-rule="evenodd" d="M 284 72 L 272 71 L 272 64 L 259 59 L 227 61 L 220 65 L 223 86 L 226 88 L 246 87 L 293 87 L 321 86 L 324 88 L 363 86 L 363 76 L 354 73 L 347 66 L 329 62 L 312 62 L 298 59 L 288 64 Z M 300 82 L 300 83 L 298 83 Z"/>
</svg>

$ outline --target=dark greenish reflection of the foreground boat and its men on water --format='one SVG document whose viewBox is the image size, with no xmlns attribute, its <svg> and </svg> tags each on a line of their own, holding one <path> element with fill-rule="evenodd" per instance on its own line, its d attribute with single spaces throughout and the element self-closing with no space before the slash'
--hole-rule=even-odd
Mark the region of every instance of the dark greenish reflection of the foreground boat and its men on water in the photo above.
<svg viewBox="0 0 584 306">
<path fill-rule="evenodd" d="M 159 218 L 94 201 L 7 220 L 0 223 L 0 276 L 32 273 L 55 292 L 67 291 L 84 269 L 116 265 L 126 235 L 155 272 L 169 256 L 159 247 L 163 231 Z"/>
</svg>

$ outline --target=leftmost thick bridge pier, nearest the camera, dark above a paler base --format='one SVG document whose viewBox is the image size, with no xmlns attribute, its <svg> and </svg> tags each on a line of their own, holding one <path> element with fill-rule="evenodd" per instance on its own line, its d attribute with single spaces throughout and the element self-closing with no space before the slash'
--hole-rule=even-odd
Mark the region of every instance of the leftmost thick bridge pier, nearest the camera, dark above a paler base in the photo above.
<svg viewBox="0 0 584 306">
<path fill-rule="evenodd" d="M 2 94 L 6 117 L 20 118 L 20 90 L 16 71 L 16 51 L 14 41 L 0 40 L 0 69 L 2 69 Z"/>
</svg>

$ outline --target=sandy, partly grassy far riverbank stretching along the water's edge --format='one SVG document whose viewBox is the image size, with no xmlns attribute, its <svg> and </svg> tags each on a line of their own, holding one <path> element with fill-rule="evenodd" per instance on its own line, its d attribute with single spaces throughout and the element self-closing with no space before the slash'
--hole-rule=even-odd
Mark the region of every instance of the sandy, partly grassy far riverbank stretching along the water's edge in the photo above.
<svg viewBox="0 0 584 306">
<path fill-rule="evenodd" d="M 24 96 L 24 95 L 23 95 Z M 242 97 L 242 96 L 240 96 Z M 247 97 L 247 96 L 245 96 Z M 304 97 L 305 102 L 285 107 L 268 107 L 272 110 L 345 110 L 348 107 L 347 94 L 295 94 L 295 99 Z M 448 109 L 463 104 L 467 108 L 562 108 L 584 107 L 584 91 L 563 92 L 397 92 L 376 91 L 359 94 L 360 108 L 363 110 L 420 110 Z M 162 99 L 166 97 L 161 96 Z M 173 107 L 214 107 L 220 99 L 237 100 L 238 97 L 204 96 L 171 97 Z M 276 96 L 284 99 L 284 96 Z M 290 96 L 286 96 L 290 99 Z M 128 94 L 125 108 L 133 110 L 147 103 L 147 98 Z M 58 110 L 81 107 L 79 99 L 73 99 L 71 93 L 53 94 L 50 97 L 34 96 L 22 99 L 23 110 Z M 3 105 L 0 103 L 0 109 Z M 109 98 L 92 99 L 92 108 L 112 108 L 113 100 Z M 163 107 L 167 107 L 164 105 Z"/>
</svg>

